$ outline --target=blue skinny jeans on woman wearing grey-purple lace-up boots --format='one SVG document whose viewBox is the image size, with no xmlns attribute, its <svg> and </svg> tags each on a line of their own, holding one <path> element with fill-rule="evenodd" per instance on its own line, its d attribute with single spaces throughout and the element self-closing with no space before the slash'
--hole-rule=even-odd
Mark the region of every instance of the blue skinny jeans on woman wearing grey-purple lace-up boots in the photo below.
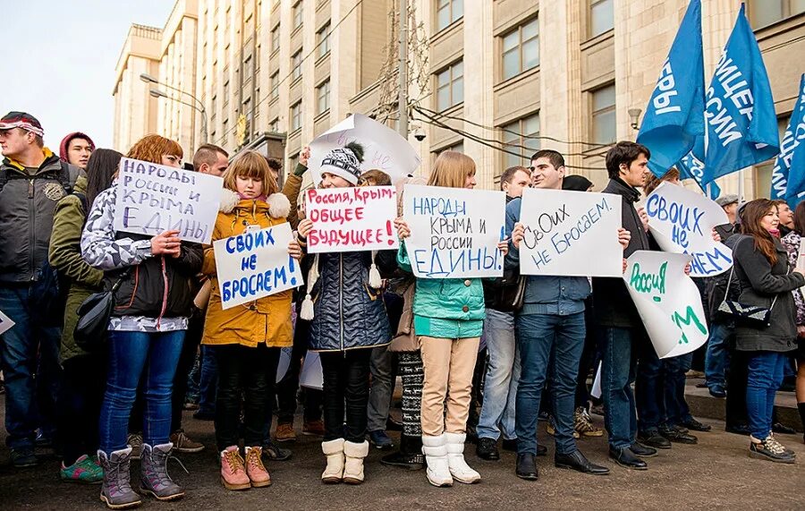
<svg viewBox="0 0 805 511">
<path fill-rule="evenodd" d="M 100 449 L 106 454 L 126 447 L 129 414 L 143 381 L 145 411 L 142 441 L 168 442 L 171 434 L 171 391 L 182 354 L 184 330 L 174 332 L 109 332 L 106 394 L 98 421 Z"/>
</svg>

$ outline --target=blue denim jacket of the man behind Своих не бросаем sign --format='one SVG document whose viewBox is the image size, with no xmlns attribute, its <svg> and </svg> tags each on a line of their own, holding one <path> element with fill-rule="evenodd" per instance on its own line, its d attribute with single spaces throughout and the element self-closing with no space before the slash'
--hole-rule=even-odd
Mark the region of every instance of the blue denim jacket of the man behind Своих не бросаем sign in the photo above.
<svg viewBox="0 0 805 511">
<path fill-rule="evenodd" d="M 515 199 L 506 206 L 506 235 L 511 238 L 514 224 L 520 221 L 522 200 Z M 509 243 L 505 268 L 520 267 L 520 251 Z M 566 316 L 584 311 L 589 296 L 587 277 L 554 277 L 530 275 L 526 279 L 520 314 L 555 314 Z"/>
</svg>

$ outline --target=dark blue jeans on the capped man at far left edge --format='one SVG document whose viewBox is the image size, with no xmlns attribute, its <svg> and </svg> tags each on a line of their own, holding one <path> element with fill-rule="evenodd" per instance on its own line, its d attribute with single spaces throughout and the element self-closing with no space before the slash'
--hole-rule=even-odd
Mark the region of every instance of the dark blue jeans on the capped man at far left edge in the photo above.
<svg viewBox="0 0 805 511">
<path fill-rule="evenodd" d="M 0 311 L 15 323 L 0 336 L 9 447 L 33 447 L 38 427 L 46 435 L 55 430 L 64 318 L 57 295 L 55 275 L 50 273 L 30 284 L 0 285 Z"/>
</svg>

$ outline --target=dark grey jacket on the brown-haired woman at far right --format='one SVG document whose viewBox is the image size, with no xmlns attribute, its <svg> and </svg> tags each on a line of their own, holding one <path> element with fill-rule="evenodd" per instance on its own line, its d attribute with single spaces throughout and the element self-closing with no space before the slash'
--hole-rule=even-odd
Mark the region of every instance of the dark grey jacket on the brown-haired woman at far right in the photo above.
<svg viewBox="0 0 805 511">
<path fill-rule="evenodd" d="M 735 349 L 743 352 L 788 352 L 795 349 L 797 325 L 792 291 L 805 285 L 805 277 L 789 271 L 788 253 L 778 239 L 774 238 L 777 261 L 772 266 L 755 248 L 751 236 L 741 234 L 736 237 L 733 278 L 741 281 L 738 301 L 745 305 L 771 307 L 771 325 L 751 328 L 739 323 L 735 328 Z"/>
</svg>

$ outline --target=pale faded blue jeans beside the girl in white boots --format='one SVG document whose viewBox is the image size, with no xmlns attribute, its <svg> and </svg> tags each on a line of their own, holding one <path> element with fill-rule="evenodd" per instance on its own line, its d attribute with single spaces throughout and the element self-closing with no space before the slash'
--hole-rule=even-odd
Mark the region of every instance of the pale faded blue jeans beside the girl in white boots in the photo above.
<svg viewBox="0 0 805 511">
<path fill-rule="evenodd" d="M 481 439 L 516 439 L 514 403 L 520 380 L 520 350 L 514 339 L 514 314 L 487 309 L 481 339 L 486 340 L 489 360 L 484 379 L 484 404 L 478 421 Z"/>
</svg>

